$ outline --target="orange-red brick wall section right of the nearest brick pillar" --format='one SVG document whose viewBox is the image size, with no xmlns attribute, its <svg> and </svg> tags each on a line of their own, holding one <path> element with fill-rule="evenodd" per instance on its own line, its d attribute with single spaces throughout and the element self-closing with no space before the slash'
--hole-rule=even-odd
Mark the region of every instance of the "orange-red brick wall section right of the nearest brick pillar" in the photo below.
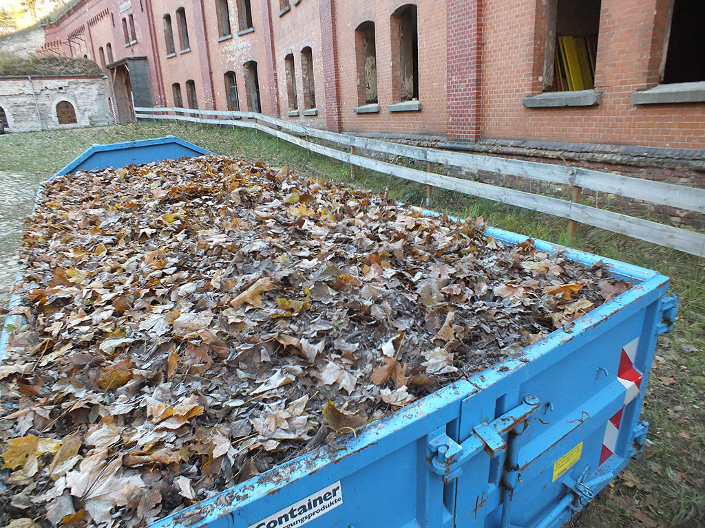
<svg viewBox="0 0 705 528">
<path fill-rule="evenodd" d="M 525 108 L 525 96 L 541 93 L 546 4 L 485 0 L 482 137 L 705 149 L 705 104 L 631 103 L 635 91 L 657 84 L 667 4 L 602 0 L 599 106 Z"/>
</svg>

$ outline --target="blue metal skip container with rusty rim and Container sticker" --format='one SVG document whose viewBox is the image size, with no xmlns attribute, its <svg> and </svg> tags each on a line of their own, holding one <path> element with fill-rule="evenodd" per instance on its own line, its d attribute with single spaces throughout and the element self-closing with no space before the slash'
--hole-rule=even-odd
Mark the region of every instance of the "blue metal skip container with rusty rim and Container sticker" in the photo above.
<svg viewBox="0 0 705 528">
<path fill-rule="evenodd" d="M 57 175 L 204 153 L 173 136 L 94 145 Z M 657 272 L 535 245 L 587 266 L 601 260 L 635 285 L 521 353 L 346 436 L 337 450 L 283 463 L 152 528 L 560 527 L 644 445 L 649 425 L 639 415 L 656 338 L 673 327 L 678 302 Z M 6 339 L 3 332 L 0 357 Z"/>
</svg>

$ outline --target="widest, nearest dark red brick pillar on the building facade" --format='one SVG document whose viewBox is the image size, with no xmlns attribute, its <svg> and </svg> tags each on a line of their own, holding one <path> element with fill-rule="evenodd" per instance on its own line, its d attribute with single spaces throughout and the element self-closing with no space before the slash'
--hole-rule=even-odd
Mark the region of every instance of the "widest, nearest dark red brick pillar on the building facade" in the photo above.
<svg viewBox="0 0 705 528">
<path fill-rule="evenodd" d="M 482 0 L 448 0 L 446 18 L 448 139 L 480 139 Z"/>
</svg>

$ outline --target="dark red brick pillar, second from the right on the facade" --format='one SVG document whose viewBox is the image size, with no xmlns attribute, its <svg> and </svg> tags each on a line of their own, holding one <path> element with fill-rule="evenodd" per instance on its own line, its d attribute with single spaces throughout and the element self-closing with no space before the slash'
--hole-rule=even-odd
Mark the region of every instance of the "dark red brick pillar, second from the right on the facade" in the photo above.
<svg viewBox="0 0 705 528">
<path fill-rule="evenodd" d="M 338 84 L 335 0 L 319 0 L 323 78 L 326 80 L 326 128 L 341 132 L 341 92 Z"/>
</svg>

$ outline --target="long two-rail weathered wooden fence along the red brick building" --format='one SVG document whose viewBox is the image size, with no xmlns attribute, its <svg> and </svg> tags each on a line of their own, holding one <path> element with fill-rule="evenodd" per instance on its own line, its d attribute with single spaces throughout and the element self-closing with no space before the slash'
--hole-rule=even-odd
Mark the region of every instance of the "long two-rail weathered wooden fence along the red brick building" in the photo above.
<svg viewBox="0 0 705 528">
<path fill-rule="evenodd" d="M 670 206 L 696 213 L 705 213 L 705 189 L 685 187 L 665 182 L 654 182 L 640 178 L 611 174 L 577 167 L 565 167 L 550 163 L 520 161 L 472 153 L 427 149 L 420 146 L 384 142 L 348 134 L 338 134 L 313 127 L 296 125 L 287 120 L 253 112 L 192 110 L 190 108 L 135 108 L 137 119 L 177 120 L 209 125 L 231 125 L 259 130 L 308 151 L 319 153 L 338 161 L 368 168 L 387 175 L 411 180 L 432 187 L 479 196 L 485 199 L 508 203 L 513 206 L 537 210 L 541 213 L 566 218 L 594 227 L 625 234 L 629 237 L 652 242 L 660 246 L 678 249 L 685 253 L 705 256 L 705 234 L 680 229 L 670 225 L 642 220 L 630 215 L 585 206 L 580 203 L 581 189 L 616 194 L 656 205 Z M 212 116 L 212 117 L 209 117 Z M 283 132 L 286 130 L 286 132 Z M 299 136 L 305 136 L 306 139 Z M 347 146 L 350 152 L 333 149 L 310 141 L 321 139 L 336 145 Z M 517 191 L 496 185 L 439 175 L 430 170 L 418 170 L 386 161 L 379 161 L 355 153 L 357 149 L 403 156 L 418 161 L 452 165 L 471 170 L 498 172 L 528 180 L 539 180 L 568 185 L 573 189 L 572 201 L 551 198 L 527 191 Z M 577 191 L 577 192 L 576 192 Z"/>
</svg>

